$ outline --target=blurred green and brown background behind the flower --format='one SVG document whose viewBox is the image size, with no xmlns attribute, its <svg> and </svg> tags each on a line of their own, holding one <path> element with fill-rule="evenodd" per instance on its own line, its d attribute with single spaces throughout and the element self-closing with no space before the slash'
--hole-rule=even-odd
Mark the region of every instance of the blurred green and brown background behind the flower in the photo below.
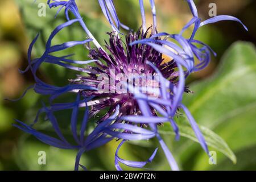
<svg viewBox="0 0 256 182">
<path fill-rule="evenodd" d="M 20 75 L 19 68 L 26 68 L 27 49 L 31 40 L 40 32 L 33 56 L 43 51 L 47 36 L 57 24 L 64 22 L 63 11 L 53 19 L 56 10 L 47 7 L 46 16 L 38 16 L 38 3 L 34 0 L 0 0 L 0 170 L 72 170 L 76 151 L 59 150 L 15 129 L 11 123 L 18 118 L 31 123 L 36 111 L 42 106 L 40 101 L 47 98 L 38 96 L 32 90 L 18 102 L 5 101 L 5 98 L 18 98 L 28 86 L 33 84 L 31 73 Z M 77 0 L 86 25 L 104 44 L 108 40 L 105 32 L 110 27 L 102 15 L 97 1 Z M 121 22 L 137 30 L 141 26 L 141 16 L 137 0 L 114 0 Z M 177 33 L 191 19 L 191 13 L 185 1 L 155 0 L 158 18 L 158 31 Z M 197 122 L 220 135 L 237 156 L 233 164 L 226 156 L 217 152 L 217 165 L 210 165 L 200 145 L 187 138 L 179 142 L 172 134 L 164 135 L 166 143 L 174 153 L 181 169 L 185 170 L 220 170 L 220 169 L 256 169 L 256 82 L 255 48 L 256 43 L 256 1 L 254 0 L 198 0 L 195 1 L 202 19 L 208 19 L 209 3 L 216 3 L 217 15 L 233 15 L 242 20 L 249 28 L 243 30 L 236 22 L 220 22 L 200 28 L 196 39 L 207 43 L 217 52 L 212 62 L 204 71 L 193 73 L 188 85 L 194 94 L 185 96 L 184 102 L 191 109 Z M 150 4 L 145 1 L 147 24 L 150 26 Z M 185 36 L 191 34 L 191 29 Z M 56 42 L 84 40 L 86 35 L 77 27 L 63 31 Z M 229 48 L 234 42 L 233 48 Z M 245 43 L 250 42 L 250 43 Z M 242 46 L 239 46 L 241 44 Z M 228 53 L 225 53 L 229 49 Z M 88 52 L 84 47 L 69 50 L 76 53 L 74 59 L 86 60 Z M 224 56 L 224 57 L 223 57 Z M 226 63 L 222 63 L 225 62 Z M 241 63 L 241 64 L 240 64 Z M 238 65 L 240 64 L 240 65 Z M 248 68 L 242 70 L 243 68 Z M 233 68 L 233 69 L 230 69 Z M 56 85 L 67 84 L 68 78 L 76 73 L 52 65 L 45 65 L 40 70 L 43 80 Z M 222 77 L 220 77 L 220 75 Z M 223 81 L 224 80 L 224 81 Z M 201 89 L 205 88 L 205 89 Z M 213 93 L 214 92 L 214 93 Z M 72 98 L 65 98 L 65 101 Z M 197 104 L 195 104 L 197 102 Z M 59 113 L 59 121 L 68 136 L 67 118 L 70 113 Z M 48 125 L 39 124 L 39 129 L 51 133 Z M 125 144 L 120 156 L 125 159 L 143 161 L 154 147 L 151 142 Z M 113 141 L 83 155 L 81 163 L 92 170 L 114 170 L 114 152 L 117 142 Z M 47 164 L 38 164 L 38 152 L 46 151 Z M 169 169 L 163 152 L 159 151 L 156 159 L 148 165 L 156 170 Z M 124 167 L 124 169 L 131 169 Z"/>
</svg>

